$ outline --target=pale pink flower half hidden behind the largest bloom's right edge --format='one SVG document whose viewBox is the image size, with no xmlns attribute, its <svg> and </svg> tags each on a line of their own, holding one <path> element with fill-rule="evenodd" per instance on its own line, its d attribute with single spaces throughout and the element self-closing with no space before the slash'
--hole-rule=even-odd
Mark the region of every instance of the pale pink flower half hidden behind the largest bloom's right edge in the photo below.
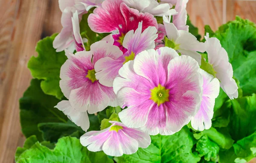
<svg viewBox="0 0 256 163">
<path fill-rule="evenodd" d="M 199 72 L 204 79 L 203 97 L 199 111 L 191 119 L 191 125 L 195 130 L 203 131 L 212 126 L 213 108 L 220 91 L 220 82 L 202 69 Z"/>
</svg>

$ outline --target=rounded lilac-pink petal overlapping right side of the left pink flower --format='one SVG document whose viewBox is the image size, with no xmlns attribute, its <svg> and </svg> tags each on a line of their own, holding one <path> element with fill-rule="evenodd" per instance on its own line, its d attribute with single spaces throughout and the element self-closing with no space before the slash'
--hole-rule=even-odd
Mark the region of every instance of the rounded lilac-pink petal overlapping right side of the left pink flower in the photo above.
<svg viewBox="0 0 256 163">
<path fill-rule="evenodd" d="M 113 60 L 110 57 L 99 59 L 94 65 L 96 79 L 103 86 L 112 87 L 114 79 L 119 76 L 118 71 L 122 65 L 122 60 Z"/>
</svg>

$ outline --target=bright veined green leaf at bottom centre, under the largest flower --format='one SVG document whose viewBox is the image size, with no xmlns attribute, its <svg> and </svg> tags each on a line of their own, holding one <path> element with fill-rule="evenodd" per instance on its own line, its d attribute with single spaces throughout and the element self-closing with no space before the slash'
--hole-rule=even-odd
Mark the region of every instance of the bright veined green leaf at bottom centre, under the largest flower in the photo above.
<svg viewBox="0 0 256 163">
<path fill-rule="evenodd" d="M 169 135 L 151 136 L 151 145 L 131 155 L 115 157 L 117 163 L 197 163 L 197 152 L 192 152 L 194 138 L 184 126 L 179 132 Z"/>
</svg>

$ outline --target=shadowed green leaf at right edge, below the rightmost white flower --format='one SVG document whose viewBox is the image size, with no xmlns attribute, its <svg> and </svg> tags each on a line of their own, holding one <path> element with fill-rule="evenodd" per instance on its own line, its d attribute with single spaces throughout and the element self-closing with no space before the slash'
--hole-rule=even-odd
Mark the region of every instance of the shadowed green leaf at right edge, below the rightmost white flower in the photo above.
<svg viewBox="0 0 256 163">
<path fill-rule="evenodd" d="M 230 135 L 240 140 L 256 131 L 256 94 L 231 100 Z"/>
</svg>

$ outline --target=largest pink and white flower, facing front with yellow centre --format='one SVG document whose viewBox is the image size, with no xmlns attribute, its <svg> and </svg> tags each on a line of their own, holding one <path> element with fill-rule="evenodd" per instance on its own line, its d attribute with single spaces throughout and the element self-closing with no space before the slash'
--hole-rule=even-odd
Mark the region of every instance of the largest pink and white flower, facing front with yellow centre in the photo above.
<svg viewBox="0 0 256 163">
<path fill-rule="evenodd" d="M 151 135 L 178 132 L 199 110 L 202 77 L 198 63 L 163 47 L 138 54 L 119 70 L 113 83 L 125 126 Z"/>
</svg>

